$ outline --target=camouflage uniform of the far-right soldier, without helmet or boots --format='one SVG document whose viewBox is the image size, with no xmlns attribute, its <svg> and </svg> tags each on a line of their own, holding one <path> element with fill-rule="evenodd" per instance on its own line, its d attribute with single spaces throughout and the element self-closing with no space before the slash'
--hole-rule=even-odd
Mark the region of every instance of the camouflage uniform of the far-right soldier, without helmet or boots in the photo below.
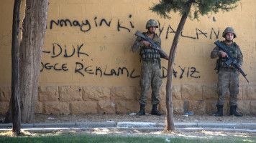
<svg viewBox="0 0 256 143">
<path fill-rule="evenodd" d="M 232 53 L 234 59 L 237 60 L 237 63 L 242 66 L 243 56 L 239 46 L 236 43 L 232 43 L 231 45 L 225 44 L 224 41 L 221 41 L 221 44 Z M 221 49 L 216 46 L 213 51 L 211 51 L 211 59 L 216 57 L 221 57 L 220 54 Z M 227 61 L 227 57 L 220 58 L 220 69 L 219 69 L 219 77 L 218 77 L 218 87 L 217 93 L 218 103 L 220 105 L 225 104 L 225 94 L 227 89 L 229 89 L 230 97 L 229 97 L 229 105 L 237 105 L 237 94 L 239 92 L 239 71 L 234 67 L 234 64 L 225 64 Z"/>
</svg>

